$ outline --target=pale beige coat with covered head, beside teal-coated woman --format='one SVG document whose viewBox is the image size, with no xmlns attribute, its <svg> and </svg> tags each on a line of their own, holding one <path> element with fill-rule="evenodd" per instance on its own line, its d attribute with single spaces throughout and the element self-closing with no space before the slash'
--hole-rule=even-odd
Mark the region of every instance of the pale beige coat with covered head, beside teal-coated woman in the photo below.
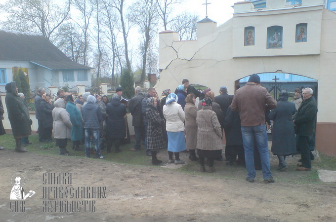
<svg viewBox="0 0 336 222">
<path fill-rule="evenodd" d="M 65 110 L 65 102 L 60 98 L 55 101 L 54 107 L 52 110 L 54 138 L 71 139 L 72 124 L 70 122 L 70 115 Z"/>
</svg>

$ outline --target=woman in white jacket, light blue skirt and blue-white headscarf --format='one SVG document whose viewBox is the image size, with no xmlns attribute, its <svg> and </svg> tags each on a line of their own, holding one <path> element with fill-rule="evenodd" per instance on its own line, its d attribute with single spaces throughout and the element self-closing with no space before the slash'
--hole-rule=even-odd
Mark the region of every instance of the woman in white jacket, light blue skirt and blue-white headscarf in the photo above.
<svg viewBox="0 0 336 222">
<path fill-rule="evenodd" d="M 175 93 L 170 93 L 166 100 L 163 113 L 166 118 L 166 130 L 168 134 L 168 163 L 183 164 L 180 160 L 181 151 L 186 149 L 184 140 L 184 119 L 185 114 L 181 105 L 176 103 L 177 96 Z M 175 161 L 172 154 L 175 154 Z"/>
</svg>

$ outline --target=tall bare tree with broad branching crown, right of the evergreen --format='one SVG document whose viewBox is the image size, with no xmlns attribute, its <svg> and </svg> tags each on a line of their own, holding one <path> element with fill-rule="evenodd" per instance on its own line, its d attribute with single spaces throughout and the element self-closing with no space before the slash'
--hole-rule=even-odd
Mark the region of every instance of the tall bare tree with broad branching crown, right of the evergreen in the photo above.
<svg viewBox="0 0 336 222">
<path fill-rule="evenodd" d="M 157 33 L 158 13 L 156 0 L 138 0 L 131 6 L 131 17 L 142 34 L 140 43 L 142 52 L 142 73 L 140 81 L 146 79 L 147 51 Z"/>
</svg>

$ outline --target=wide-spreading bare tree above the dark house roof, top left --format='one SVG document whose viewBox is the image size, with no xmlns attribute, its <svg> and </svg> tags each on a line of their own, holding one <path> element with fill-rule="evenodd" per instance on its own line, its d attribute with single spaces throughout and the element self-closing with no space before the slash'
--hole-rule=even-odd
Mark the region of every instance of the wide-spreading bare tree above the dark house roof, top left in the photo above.
<svg viewBox="0 0 336 222">
<path fill-rule="evenodd" d="M 69 18 L 71 0 L 59 7 L 52 0 L 8 0 L 1 5 L 9 13 L 3 27 L 21 32 L 41 33 L 53 41 L 52 34 Z"/>
</svg>

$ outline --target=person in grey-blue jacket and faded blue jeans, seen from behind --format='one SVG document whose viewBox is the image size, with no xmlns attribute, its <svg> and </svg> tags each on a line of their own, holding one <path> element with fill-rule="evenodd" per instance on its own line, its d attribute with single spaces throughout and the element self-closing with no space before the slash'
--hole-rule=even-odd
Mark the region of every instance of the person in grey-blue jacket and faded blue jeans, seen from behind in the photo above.
<svg viewBox="0 0 336 222">
<path fill-rule="evenodd" d="M 96 158 L 102 159 L 104 156 L 100 154 L 99 128 L 100 122 L 103 121 L 103 116 L 99 107 L 96 105 L 96 98 L 94 98 L 94 96 L 90 95 L 87 97 L 87 104 L 83 106 L 82 114 L 85 129 L 85 156 L 90 157 L 89 144 L 90 137 L 92 136 L 97 155 Z"/>
</svg>

